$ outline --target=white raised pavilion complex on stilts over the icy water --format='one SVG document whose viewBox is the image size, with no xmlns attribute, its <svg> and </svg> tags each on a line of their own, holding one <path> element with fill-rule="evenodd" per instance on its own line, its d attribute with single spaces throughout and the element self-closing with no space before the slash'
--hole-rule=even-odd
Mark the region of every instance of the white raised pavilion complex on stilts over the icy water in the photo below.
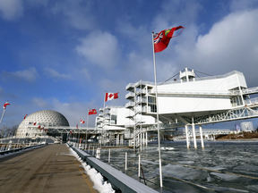
<svg viewBox="0 0 258 193">
<path fill-rule="evenodd" d="M 195 126 L 199 126 L 202 133 L 202 124 L 258 117 L 258 98 L 250 97 L 258 93 L 258 88 L 247 88 L 242 72 L 195 78 L 195 72 L 185 68 L 178 75 L 179 80 L 157 84 L 158 99 L 154 82 L 129 83 L 125 87 L 129 91 L 125 95 L 129 100 L 125 107 L 112 107 L 107 113 L 106 108 L 104 112 L 102 109 L 103 114 L 99 113 L 96 125 L 104 125 L 106 130 L 120 128 L 133 136 L 157 130 L 158 101 L 159 129 L 185 127 L 189 147 L 189 127 L 192 127 L 196 148 Z"/>
</svg>

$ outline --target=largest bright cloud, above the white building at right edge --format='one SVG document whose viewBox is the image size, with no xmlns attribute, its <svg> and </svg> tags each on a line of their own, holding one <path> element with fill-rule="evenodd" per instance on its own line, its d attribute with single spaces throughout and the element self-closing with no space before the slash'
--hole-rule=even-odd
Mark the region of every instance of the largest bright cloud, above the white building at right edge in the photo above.
<svg viewBox="0 0 258 193">
<path fill-rule="evenodd" d="M 254 80 L 258 70 L 257 20 L 258 10 L 228 14 L 209 33 L 199 36 L 195 45 L 178 44 L 177 63 L 212 75 L 242 71 L 245 79 Z M 185 29 L 183 36 L 187 33 L 191 31 Z"/>
</svg>

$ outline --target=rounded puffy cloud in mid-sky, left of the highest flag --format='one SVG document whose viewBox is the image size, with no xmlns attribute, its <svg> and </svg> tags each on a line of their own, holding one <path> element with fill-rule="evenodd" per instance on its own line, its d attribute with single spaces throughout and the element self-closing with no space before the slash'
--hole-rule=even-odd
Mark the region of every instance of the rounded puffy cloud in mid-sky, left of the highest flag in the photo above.
<svg viewBox="0 0 258 193">
<path fill-rule="evenodd" d="M 116 66 L 121 55 L 116 37 L 101 31 L 94 31 L 83 38 L 81 45 L 76 46 L 76 51 L 90 63 L 105 69 Z"/>
</svg>

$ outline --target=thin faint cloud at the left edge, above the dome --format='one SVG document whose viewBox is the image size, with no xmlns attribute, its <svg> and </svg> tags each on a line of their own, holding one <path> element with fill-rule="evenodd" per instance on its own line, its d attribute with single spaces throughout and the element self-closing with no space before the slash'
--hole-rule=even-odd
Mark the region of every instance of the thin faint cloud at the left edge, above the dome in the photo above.
<svg viewBox="0 0 258 193">
<path fill-rule="evenodd" d="M 15 81 L 26 80 L 28 82 L 36 81 L 38 76 L 39 74 L 34 67 L 24 71 L 15 71 L 15 72 L 3 71 L 1 74 L 1 77 L 3 80 L 15 80 Z"/>
</svg>

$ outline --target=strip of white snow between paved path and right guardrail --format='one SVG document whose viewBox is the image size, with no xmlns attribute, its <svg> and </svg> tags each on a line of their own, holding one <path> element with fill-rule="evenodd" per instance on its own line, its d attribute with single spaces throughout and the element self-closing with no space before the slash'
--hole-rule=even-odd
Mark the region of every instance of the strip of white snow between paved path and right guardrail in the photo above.
<svg viewBox="0 0 258 193">
<path fill-rule="evenodd" d="M 115 190 L 112 189 L 111 184 L 107 183 L 107 181 L 104 181 L 103 176 L 99 172 L 97 172 L 94 168 L 90 168 L 90 165 L 84 163 L 81 157 L 77 155 L 77 153 L 73 151 L 72 148 L 70 148 L 70 151 L 73 156 L 82 163 L 82 167 L 84 168 L 85 173 L 90 176 L 90 180 L 92 180 L 94 183 L 94 189 L 97 189 L 100 193 L 115 193 Z"/>
</svg>

